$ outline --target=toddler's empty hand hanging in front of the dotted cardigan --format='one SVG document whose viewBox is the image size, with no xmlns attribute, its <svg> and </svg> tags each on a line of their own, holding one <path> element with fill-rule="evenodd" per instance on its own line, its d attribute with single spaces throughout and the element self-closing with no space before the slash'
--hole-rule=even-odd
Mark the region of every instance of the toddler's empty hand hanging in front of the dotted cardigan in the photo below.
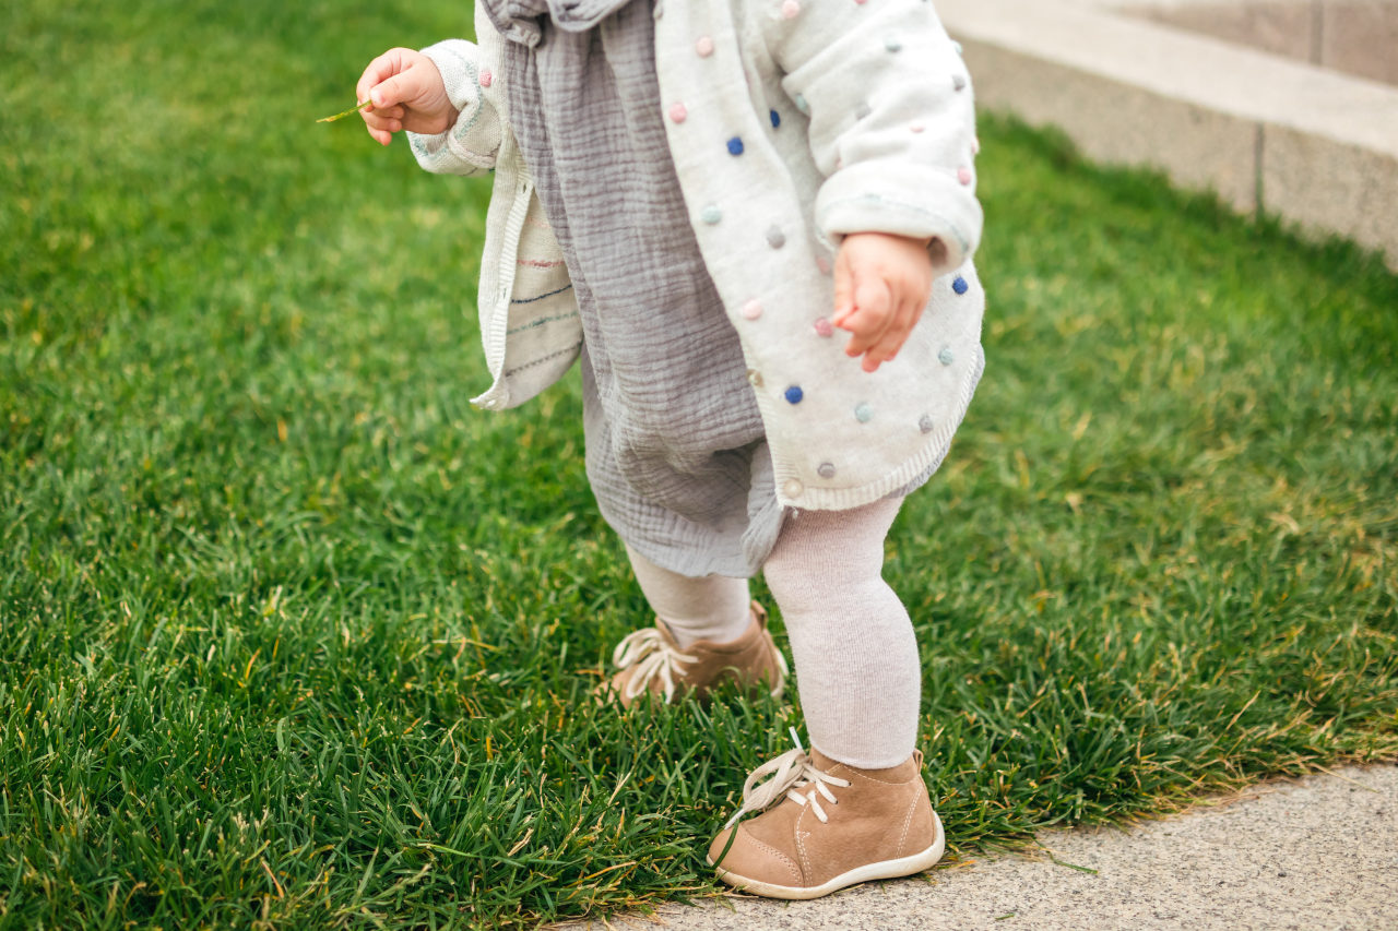
<svg viewBox="0 0 1398 931">
<path fill-rule="evenodd" d="M 907 341 L 932 292 L 932 259 L 925 239 L 850 233 L 835 259 L 835 316 L 849 330 L 844 352 L 864 356 L 874 372 Z"/>
</svg>

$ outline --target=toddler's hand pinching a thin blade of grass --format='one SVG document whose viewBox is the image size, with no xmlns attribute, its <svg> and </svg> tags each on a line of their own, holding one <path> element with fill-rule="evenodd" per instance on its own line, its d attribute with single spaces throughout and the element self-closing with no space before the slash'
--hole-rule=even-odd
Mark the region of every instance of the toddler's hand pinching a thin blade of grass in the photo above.
<svg viewBox="0 0 1398 931">
<path fill-rule="evenodd" d="M 355 85 L 355 99 L 373 102 L 359 116 L 382 145 L 400 130 L 442 133 L 457 116 L 442 73 L 432 59 L 412 49 L 389 49 L 370 62 Z"/>
</svg>

